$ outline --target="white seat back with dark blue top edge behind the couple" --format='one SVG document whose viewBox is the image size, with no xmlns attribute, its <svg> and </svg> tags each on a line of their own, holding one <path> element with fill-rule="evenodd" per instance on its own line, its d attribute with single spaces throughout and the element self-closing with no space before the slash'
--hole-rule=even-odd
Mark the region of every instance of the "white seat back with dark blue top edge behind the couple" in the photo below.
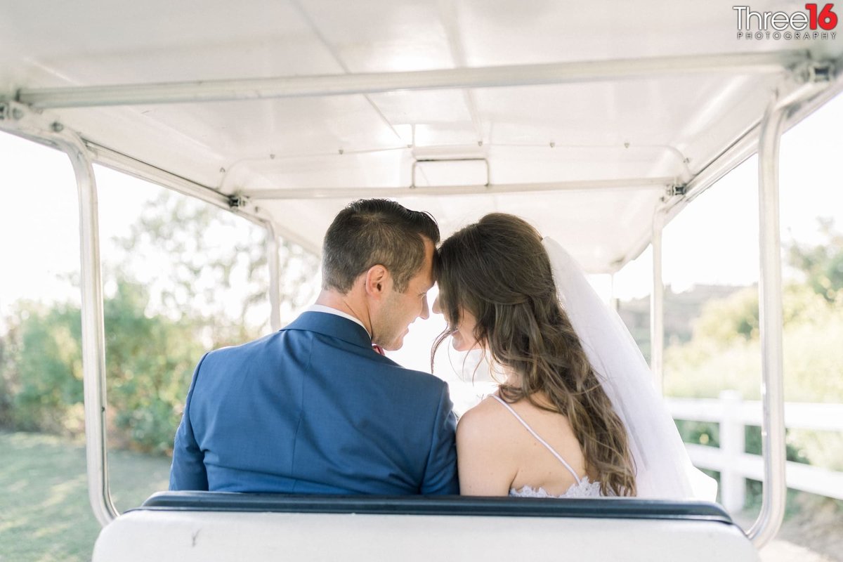
<svg viewBox="0 0 843 562">
<path fill-rule="evenodd" d="M 222 500 L 221 500 L 222 498 Z M 105 527 L 106 560 L 758 560 L 716 504 L 532 498 L 153 496 Z"/>
</svg>

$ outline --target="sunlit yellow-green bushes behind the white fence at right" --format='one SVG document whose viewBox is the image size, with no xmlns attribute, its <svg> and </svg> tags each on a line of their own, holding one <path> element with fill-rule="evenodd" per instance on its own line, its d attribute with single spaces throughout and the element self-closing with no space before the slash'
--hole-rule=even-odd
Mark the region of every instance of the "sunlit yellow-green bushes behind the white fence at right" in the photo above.
<svg viewBox="0 0 843 562">
<path fill-rule="evenodd" d="M 843 399 L 843 236 L 830 221 L 820 221 L 827 242 L 791 243 L 788 262 L 802 268 L 803 283 L 782 290 L 783 356 L 789 399 Z M 744 398 L 758 393 L 760 377 L 759 299 L 757 287 L 712 300 L 702 308 L 693 338 L 665 351 L 669 391 L 676 395 L 716 396 L 737 388 Z M 675 373 L 675 376 L 673 376 Z"/>
</svg>

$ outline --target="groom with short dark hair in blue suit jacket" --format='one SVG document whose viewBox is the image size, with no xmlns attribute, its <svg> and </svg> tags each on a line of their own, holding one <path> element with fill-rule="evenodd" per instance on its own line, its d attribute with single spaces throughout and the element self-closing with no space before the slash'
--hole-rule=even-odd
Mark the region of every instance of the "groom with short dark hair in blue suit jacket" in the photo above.
<svg viewBox="0 0 843 562">
<path fill-rule="evenodd" d="M 448 387 L 379 354 L 427 318 L 438 241 L 427 213 L 346 206 L 325 234 L 316 304 L 199 361 L 170 490 L 459 493 Z"/>
</svg>

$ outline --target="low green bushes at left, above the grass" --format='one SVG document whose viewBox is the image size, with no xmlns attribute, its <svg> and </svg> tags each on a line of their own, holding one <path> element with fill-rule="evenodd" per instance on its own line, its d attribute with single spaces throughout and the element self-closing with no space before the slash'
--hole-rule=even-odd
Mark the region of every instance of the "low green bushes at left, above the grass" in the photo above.
<svg viewBox="0 0 843 562">
<path fill-rule="evenodd" d="M 124 447 L 164 452 L 172 446 L 185 388 L 201 356 L 194 327 L 144 313 L 141 286 L 121 280 L 105 300 L 110 433 Z M 14 351 L 3 380 L 14 388 L 10 425 L 25 431 L 84 432 L 79 309 L 27 303 L 4 338 Z"/>
</svg>

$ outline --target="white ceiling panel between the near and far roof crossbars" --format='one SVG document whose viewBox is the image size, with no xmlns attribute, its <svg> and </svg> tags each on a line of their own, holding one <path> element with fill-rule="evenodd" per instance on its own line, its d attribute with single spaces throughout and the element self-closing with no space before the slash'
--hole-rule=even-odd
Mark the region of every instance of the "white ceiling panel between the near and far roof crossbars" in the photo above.
<svg viewBox="0 0 843 562">
<path fill-rule="evenodd" d="M 761 115 L 768 101 L 750 95 L 759 82 L 710 76 L 79 108 L 61 110 L 61 120 L 89 141 L 227 194 L 409 186 L 414 160 L 460 158 L 485 159 L 490 183 L 683 183 L 754 125 L 745 116 Z M 776 77 L 761 83 L 771 88 Z"/>
</svg>

